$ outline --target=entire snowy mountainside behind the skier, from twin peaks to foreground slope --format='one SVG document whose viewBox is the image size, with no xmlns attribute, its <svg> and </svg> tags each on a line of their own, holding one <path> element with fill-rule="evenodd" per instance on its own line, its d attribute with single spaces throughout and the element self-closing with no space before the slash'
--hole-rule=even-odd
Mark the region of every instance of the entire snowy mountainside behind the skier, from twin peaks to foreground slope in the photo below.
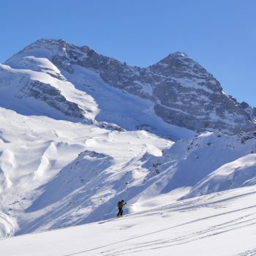
<svg viewBox="0 0 256 256">
<path fill-rule="evenodd" d="M 137 214 L 243 191 L 254 129 L 185 53 L 129 67 L 41 39 L 0 64 L 0 236 L 110 219 L 121 198 Z"/>
</svg>

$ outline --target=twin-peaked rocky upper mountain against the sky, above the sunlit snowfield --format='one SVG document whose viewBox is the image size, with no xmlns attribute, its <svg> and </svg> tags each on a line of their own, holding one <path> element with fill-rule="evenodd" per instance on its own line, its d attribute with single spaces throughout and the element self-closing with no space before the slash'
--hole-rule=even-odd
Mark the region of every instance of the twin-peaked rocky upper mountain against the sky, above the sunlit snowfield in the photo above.
<svg viewBox="0 0 256 256">
<path fill-rule="evenodd" d="M 13 80 L 6 83 L 4 78 L 10 74 Z M 165 126 L 172 124 L 197 132 L 219 129 L 233 134 L 255 129 L 255 110 L 249 111 L 223 93 L 213 75 L 185 53 L 173 53 L 151 67 L 140 68 L 102 56 L 87 46 L 40 39 L 7 60 L 1 66 L 1 78 L 4 87 L 9 84 L 18 89 L 16 97 L 39 99 L 72 118 L 84 116 L 116 123 L 116 117 L 110 117 L 115 111 L 106 105 L 105 91 L 100 90 L 113 86 L 118 94 L 136 95 L 121 113 L 141 113 L 144 107 L 147 117 L 138 124 L 126 120 L 126 129 L 142 126 L 158 130 L 154 125 L 157 121 L 148 121 L 152 117 L 161 118 Z M 108 96 L 113 100 L 113 95 Z M 127 97 L 123 99 L 127 101 Z M 123 119 L 128 118 L 134 119 L 130 115 Z"/>
</svg>

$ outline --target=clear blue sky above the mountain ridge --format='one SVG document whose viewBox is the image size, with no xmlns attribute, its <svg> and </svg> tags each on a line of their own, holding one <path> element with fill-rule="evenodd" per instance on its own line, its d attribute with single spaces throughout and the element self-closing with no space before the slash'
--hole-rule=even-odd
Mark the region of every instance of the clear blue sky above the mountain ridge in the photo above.
<svg viewBox="0 0 256 256">
<path fill-rule="evenodd" d="M 256 106 L 255 0 L 0 0 L 0 62 L 36 39 L 146 67 L 183 51 Z"/>
</svg>

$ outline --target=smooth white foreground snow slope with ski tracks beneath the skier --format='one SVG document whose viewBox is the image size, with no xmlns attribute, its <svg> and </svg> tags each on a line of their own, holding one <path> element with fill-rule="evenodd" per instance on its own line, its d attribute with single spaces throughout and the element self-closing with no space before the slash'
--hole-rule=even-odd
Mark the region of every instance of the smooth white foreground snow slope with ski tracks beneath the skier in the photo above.
<svg viewBox="0 0 256 256">
<path fill-rule="evenodd" d="M 0 240 L 10 256 L 256 255 L 256 187 L 151 208 L 122 219 Z M 147 202 L 151 204 L 151 202 Z"/>
</svg>

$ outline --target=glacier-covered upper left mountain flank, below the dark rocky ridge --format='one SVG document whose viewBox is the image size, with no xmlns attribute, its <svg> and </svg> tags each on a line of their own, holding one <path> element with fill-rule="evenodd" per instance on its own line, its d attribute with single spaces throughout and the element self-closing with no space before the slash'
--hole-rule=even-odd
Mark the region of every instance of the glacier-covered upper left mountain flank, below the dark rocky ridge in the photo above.
<svg viewBox="0 0 256 256">
<path fill-rule="evenodd" d="M 37 51 L 31 54 L 41 56 Z M 12 67 L 0 66 L 1 107 L 26 116 L 80 121 L 108 129 L 146 129 L 170 138 L 195 134 L 162 121 L 154 113 L 153 102 L 114 89 L 96 72 L 72 66 L 74 74 L 70 75 L 46 58 L 23 56 L 25 53 L 7 61 Z"/>
</svg>

